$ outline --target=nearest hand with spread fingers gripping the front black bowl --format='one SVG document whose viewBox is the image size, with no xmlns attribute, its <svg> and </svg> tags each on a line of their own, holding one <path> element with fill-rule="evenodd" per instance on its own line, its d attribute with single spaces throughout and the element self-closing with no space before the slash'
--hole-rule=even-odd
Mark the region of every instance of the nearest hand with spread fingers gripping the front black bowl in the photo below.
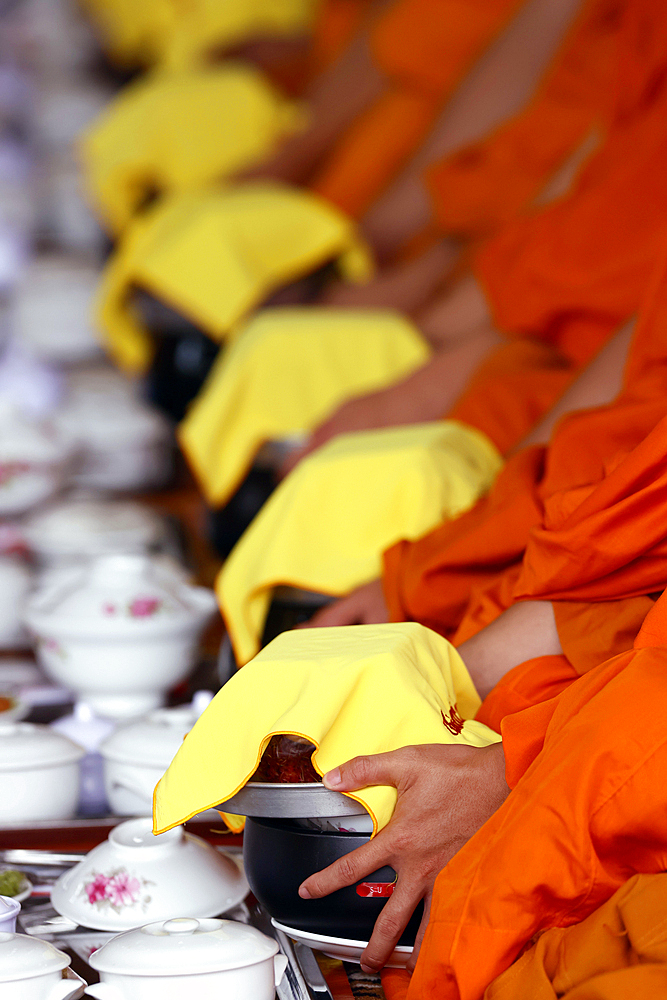
<svg viewBox="0 0 667 1000">
<path fill-rule="evenodd" d="M 383 967 L 423 900 L 424 917 L 408 965 L 412 969 L 438 873 L 509 794 L 502 743 L 488 747 L 427 744 L 355 757 L 325 774 L 324 784 L 339 792 L 393 785 L 398 801 L 391 821 L 376 837 L 311 875 L 299 895 L 319 899 L 391 865 L 398 875 L 396 888 L 375 922 L 361 967 L 366 972 Z"/>
</svg>

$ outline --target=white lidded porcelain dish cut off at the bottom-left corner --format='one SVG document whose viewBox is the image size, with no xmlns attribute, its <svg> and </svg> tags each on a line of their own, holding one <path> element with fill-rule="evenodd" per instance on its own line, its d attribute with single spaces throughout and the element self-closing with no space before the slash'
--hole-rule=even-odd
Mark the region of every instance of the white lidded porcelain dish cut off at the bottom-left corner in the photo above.
<svg viewBox="0 0 667 1000">
<path fill-rule="evenodd" d="M 86 984 L 70 975 L 70 961 L 47 941 L 0 932 L 2 1000 L 75 1000 Z"/>
</svg>

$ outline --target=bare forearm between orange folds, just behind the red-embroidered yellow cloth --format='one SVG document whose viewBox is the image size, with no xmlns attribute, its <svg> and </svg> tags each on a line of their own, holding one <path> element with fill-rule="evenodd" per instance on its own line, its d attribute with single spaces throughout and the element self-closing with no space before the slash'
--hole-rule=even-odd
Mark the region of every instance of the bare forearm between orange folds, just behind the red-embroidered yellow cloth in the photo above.
<svg viewBox="0 0 667 1000">
<path fill-rule="evenodd" d="M 458 647 L 480 698 L 514 667 L 562 653 L 550 601 L 521 601 Z"/>
</svg>

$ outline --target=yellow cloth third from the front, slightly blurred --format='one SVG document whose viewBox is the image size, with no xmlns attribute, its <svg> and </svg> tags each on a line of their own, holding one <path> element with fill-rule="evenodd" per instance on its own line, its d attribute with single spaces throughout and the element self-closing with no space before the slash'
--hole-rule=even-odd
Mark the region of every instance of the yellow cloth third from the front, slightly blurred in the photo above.
<svg viewBox="0 0 667 1000">
<path fill-rule="evenodd" d="M 388 310 L 266 309 L 217 360 L 179 428 L 212 506 L 224 504 L 265 441 L 311 430 L 343 400 L 427 360 L 417 328 Z"/>
</svg>

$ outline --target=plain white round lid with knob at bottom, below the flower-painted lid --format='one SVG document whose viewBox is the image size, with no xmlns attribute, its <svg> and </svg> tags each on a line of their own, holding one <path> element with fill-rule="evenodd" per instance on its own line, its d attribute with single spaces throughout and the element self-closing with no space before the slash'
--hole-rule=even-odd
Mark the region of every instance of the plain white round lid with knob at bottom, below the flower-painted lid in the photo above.
<svg viewBox="0 0 667 1000">
<path fill-rule="evenodd" d="M 246 924 L 176 917 L 119 934 L 89 962 L 99 972 L 183 976 L 256 965 L 277 952 L 272 938 Z"/>
</svg>

